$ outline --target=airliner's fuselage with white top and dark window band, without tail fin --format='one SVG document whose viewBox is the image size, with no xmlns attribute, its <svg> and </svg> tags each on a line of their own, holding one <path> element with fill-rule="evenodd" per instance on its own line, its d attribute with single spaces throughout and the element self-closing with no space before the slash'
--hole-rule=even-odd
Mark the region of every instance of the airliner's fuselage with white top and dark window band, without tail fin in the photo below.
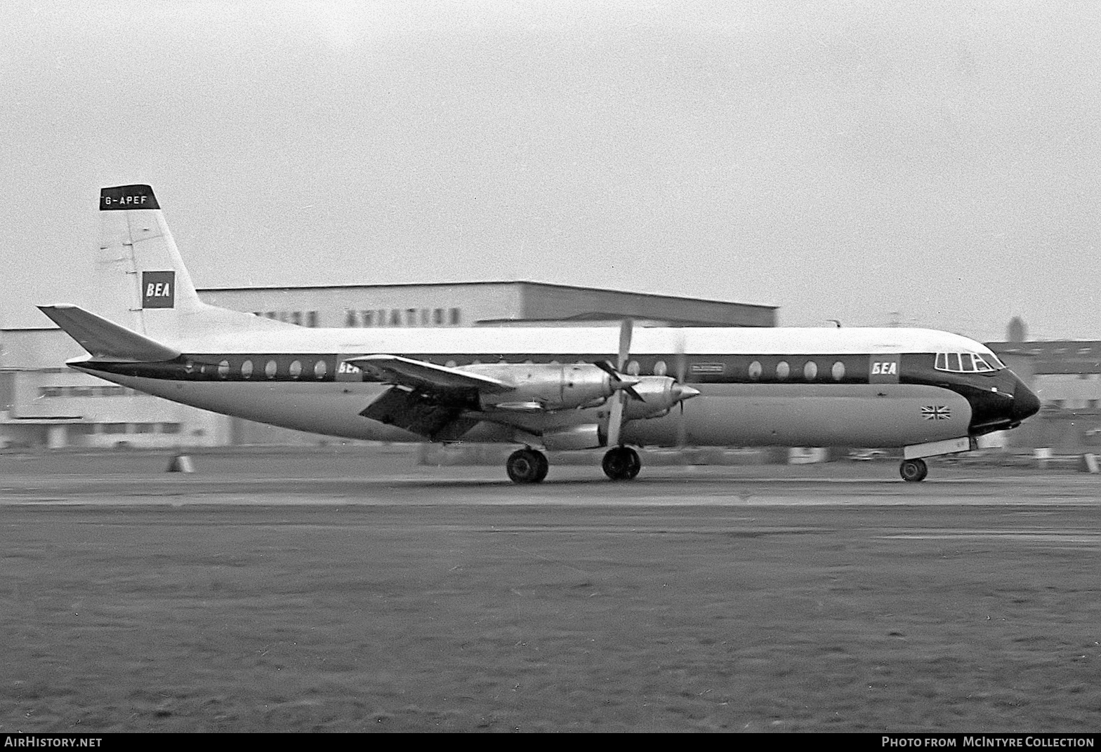
<svg viewBox="0 0 1101 752">
<path fill-rule="evenodd" d="M 345 361 L 391 353 L 442 366 L 615 360 L 615 331 L 586 329 L 280 330 L 230 334 L 171 361 L 84 358 L 70 365 L 166 399 L 250 420 L 352 439 L 424 440 L 360 412 L 388 387 Z M 628 421 L 624 443 L 905 446 L 1017 425 L 1038 409 L 1007 368 L 936 368 L 938 353 L 983 354 L 981 344 L 913 329 L 639 329 L 632 373 L 683 372 L 700 396 L 678 410 Z M 636 366 L 635 366 L 636 364 Z M 538 435 L 543 414 L 480 413 L 457 439 Z M 577 409 L 599 421 L 600 407 Z M 599 416 L 597 413 L 600 413 Z M 595 417 L 596 416 L 596 417 Z M 569 421 L 557 414 L 555 421 Z M 682 423 L 683 421 L 683 423 Z"/>
</svg>

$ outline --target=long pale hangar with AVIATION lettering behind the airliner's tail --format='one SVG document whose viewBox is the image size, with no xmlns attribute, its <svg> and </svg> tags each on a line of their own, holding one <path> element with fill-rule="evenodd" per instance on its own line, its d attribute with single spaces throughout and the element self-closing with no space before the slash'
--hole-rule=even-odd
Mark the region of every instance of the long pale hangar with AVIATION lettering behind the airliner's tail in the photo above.
<svg viewBox="0 0 1101 752">
<path fill-rule="evenodd" d="M 776 307 L 533 281 L 199 290 L 208 303 L 302 327 L 775 327 Z M 0 446 L 317 444 L 317 434 L 177 405 L 67 368 L 84 350 L 54 327 L 0 330 Z"/>
</svg>

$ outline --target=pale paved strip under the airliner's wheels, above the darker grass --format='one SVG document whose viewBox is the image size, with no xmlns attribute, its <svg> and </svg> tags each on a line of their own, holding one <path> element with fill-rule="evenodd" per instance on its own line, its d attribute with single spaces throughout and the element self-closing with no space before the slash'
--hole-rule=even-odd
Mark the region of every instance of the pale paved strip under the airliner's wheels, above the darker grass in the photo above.
<svg viewBox="0 0 1101 752">
<path fill-rule="evenodd" d="M 295 472 L 297 469 L 297 472 Z M 893 465 L 802 468 L 680 466 L 645 468 L 612 483 L 597 467 L 552 469 L 517 486 L 495 467 L 390 467 L 334 477 L 258 464 L 254 472 L 57 473 L 0 475 L 0 506 L 1053 506 L 1101 504 L 1101 478 L 1027 468 L 934 468 L 920 484 Z"/>
</svg>

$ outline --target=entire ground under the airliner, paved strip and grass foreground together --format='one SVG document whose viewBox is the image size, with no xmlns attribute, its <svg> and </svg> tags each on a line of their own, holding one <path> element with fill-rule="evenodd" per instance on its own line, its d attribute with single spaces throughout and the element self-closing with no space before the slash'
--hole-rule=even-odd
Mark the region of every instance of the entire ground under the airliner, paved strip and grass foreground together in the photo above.
<svg viewBox="0 0 1101 752">
<path fill-rule="evenodd" d="M 0 731 L 1101 727 L 1094 476 L 254 461 L 0 475 Z"/>
</svg>

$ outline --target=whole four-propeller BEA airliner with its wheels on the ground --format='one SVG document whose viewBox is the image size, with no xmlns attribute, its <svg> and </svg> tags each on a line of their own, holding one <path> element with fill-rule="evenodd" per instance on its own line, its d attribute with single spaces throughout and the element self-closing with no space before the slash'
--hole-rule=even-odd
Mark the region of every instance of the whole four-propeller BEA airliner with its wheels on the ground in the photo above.
<svg viewBox="0 0 1101 752">
<path fill-rule="evenodd" d="M 634 446 L 903 447 L 967 452 L 1039 401 L 989 349 L 926 329 L 307 329 L 208 306 L 145 185 L 100 191 L 103 318 L 41 310 L 88 355 L 78 371 L 185 405 L 335 436 L 517 444 L 515 483 L 544 451 Z"/>
</svg>

